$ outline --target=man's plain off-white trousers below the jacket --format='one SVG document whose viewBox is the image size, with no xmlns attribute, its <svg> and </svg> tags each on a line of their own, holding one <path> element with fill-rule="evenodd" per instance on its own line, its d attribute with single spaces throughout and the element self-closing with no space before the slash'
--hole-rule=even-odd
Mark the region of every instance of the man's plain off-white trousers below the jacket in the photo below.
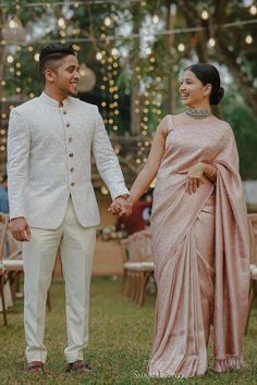
<svg viewBox="0 0 257 385">
<path fill-rule="evenodd" d="M 46 299 L 59 246 L 66 296 L 68 347 L 64 353 L 68 362 L 83 360 L 83 350 L 88 341 L 89 286 L 96 227 L 83 227 L 78 223 L 70 198 L 59 228 L 30 231 L 30 240 L 23 244 L 27 362 L 45 362 L 47 358 L 44 345 Z"/>
</svg>

